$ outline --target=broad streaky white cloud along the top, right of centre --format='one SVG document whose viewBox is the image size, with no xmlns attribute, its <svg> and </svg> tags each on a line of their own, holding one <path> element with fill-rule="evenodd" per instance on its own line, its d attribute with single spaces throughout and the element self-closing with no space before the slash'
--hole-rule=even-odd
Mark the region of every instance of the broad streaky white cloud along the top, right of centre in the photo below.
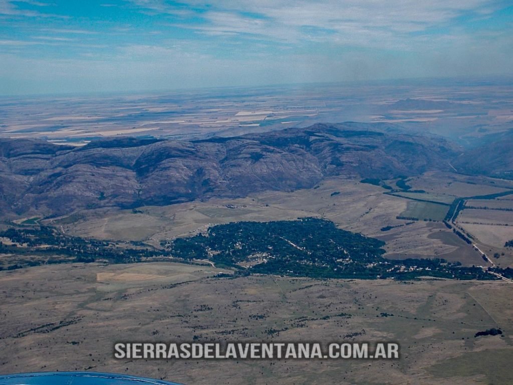
<svg viewBox="0 0 513 385">
<path fill-rule="evenodd" d="M 184 11 L 163 0 L 130 2 L 156 13 Z M 489 17 L 497 9 L 488 0 L 219 0 L 208 3 L 211 6 L 201 0 L 186 3 L 190 9 L 203 10 L 198 15 L 206 23 L 174 25 L 211 36 L 252 35 L 291 44 L 326 42 L 389 49 L 422 43 L 411 33 L 422 35 L 428 28 L 444 27 L 465 12 Z M 315 34 L 308 28 L 330 33 Z"/>
</svg>

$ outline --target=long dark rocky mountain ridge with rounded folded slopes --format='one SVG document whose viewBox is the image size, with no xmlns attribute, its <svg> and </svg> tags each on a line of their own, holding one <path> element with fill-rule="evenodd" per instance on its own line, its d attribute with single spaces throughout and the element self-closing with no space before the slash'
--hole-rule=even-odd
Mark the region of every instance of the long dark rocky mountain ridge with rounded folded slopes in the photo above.
<svg viewBox="0 0 513 385">
<path fill-rule="evenodd" d="M 115 138 L 80 148 L 0 140 L 0 211 L 165 205 L 313 187 L 323 178 L 393 178 L 448 170 L 457 149 L 393 127 L 316 124 L 201 141 Z"/>
</svg>

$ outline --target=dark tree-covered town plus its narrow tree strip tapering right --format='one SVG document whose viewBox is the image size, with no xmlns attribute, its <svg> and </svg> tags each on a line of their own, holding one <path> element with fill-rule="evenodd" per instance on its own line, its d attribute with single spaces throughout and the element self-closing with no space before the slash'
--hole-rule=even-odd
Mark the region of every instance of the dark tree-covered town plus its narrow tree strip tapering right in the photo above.
<svg viewBox="0 0 513 385">
<path fill-rule="evenodd" d="M 496 278 L 480 267 L 462 267 L 442 259 L 388 260 L 382 256 L 384 244 L 324 219 L 301 218 L 216 225 L 206 235 L 179 238 L 165 246 L 173 256 L 184 259 L 209 258 L 236 268 L 246 262 L 251 265 L 247 273 L 360 279 Z"/>
</svg>

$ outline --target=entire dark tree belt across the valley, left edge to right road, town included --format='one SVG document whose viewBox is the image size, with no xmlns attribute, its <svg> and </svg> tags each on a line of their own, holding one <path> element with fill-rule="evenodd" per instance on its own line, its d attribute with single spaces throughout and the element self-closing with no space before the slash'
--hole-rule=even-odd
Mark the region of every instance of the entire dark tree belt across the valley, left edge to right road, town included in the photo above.
<svg viewBox="0 0 513 385">
<path fill-rule="evenodd" d="M 133 246 L 139 248 L 120 247 L 112 242 L 68 236 L 46 226 L 9 228 L 0 232 L 0 237 L 15 243 L 0 243 L 0 252 L 20 257 L 7 268 L 42 262 L 102 259 L 129 263 L 174 257 L 187 263 L 193 259 L 209 259 L 219 267 L 238 269 L 236 276 L 259 273 L 311 278 L 497 279 L 480 267 L 463 267 L 458 262 L 443 259 L 385 259 L 383 241 L 339 229 L 333 222 L 319 218 L 215 225 L 205 235 L 162 242 L 162 249 L 145 247 L 139 242 L 133 242 Z M 23 260 L 24 256 L 46 258 Z M 496 270 L 513 277 L 513 269 Z"/>
</svg>

